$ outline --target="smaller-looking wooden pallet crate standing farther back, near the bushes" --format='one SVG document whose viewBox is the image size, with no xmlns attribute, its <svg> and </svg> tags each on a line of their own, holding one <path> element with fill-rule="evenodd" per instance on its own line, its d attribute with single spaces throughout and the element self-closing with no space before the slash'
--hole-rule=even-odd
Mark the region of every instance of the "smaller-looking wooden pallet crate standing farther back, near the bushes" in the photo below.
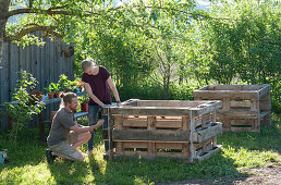
<svg viewBox="0 0 281 185">
<path fill-rule="evenodd" d="M 217 116 L 223 131 L 259 132 L 270 125 L 270 85 L 208 85 L 193 92 L 195 100 L 221 100 Z"/>
</svg>

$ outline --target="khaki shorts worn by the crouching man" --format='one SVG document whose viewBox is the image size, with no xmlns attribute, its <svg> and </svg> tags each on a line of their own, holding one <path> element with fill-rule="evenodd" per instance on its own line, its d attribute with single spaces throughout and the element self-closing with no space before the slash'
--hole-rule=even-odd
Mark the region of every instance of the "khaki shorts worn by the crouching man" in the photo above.
<svg viewBox="0 0 281 185">
<path fill-rule="evenodd" d="M 57 145 L 49 146 L 49 148 L 53 152 L 72 158 L 72 155 L 77 150 L 73 148 L 71 145 L 76 143 L 77 140 L 78 140 L 78 134 L 71 131 L 68 140 L 61 141 Z"/>
</svg>

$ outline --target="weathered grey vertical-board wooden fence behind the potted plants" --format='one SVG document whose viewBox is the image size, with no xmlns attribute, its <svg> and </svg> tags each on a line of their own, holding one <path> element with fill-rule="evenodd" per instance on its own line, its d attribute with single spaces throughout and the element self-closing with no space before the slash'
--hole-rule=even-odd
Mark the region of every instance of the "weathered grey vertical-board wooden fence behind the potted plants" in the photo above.
<svg viewBox="0 0 281 185">
<path fill-rule="evenodd" d="M 37 36 L 41 34 L 36 33 Z M 33 74 L 39 83 L 36 89 L 42 92 L 45 92 L 44 87 L 47 87 L 49 83 L 58 82 L 60 74 L 65 74 L 69 79 L 73 81 L 74 57 L 66 57 L 65 53 L 70 46 L 60 40 L 51 41 L 49 38 L 44 38 L 44 41 L 46 44 L 42 47 L 27 46 L 25 48 L 12 42 L 4 44 L 2 69 L 0 69 L 0 103 L 11 100 L 21 70 Z M 44 119 L 48 116 L 48 110 L 54 108 L 47 108 Z M 0 116 L 0 125 L 2 130 L 9 126 L 8 118 L 3 113 Z"/>
</svg>

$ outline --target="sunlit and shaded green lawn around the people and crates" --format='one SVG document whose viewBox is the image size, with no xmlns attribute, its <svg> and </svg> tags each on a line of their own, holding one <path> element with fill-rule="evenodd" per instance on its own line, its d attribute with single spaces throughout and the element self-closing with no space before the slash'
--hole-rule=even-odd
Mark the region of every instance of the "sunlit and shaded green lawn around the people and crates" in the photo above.
<svg viewBox="0 0 281 185">
<path fill-rule="evenodd" d="M 100 130 L 94 155 L 84 162 L 57 160 L 48 164 L 46 144 L 38 141 L 38 130 L 23 130 L 16 144 L 0 133 L 0 149 L 8 149 L 10 162 L 0 164 L 0 184 L 154 184 L 186 178 L 245 176 L 245 170 L 277 165 L 281 162 L 280 118 L 258 133 L 227 133 L 218 137 L 221 152 L 199 163 L 185 164 L 164 158 L 144 160 L 121 158 L 102 159 Z M 83 121 L 82 121 L 83 122 Z M 85 124 L 85 122 L 83 122 Z M 86 151 L 87 146 L 81 147 Z"/>
</svg>

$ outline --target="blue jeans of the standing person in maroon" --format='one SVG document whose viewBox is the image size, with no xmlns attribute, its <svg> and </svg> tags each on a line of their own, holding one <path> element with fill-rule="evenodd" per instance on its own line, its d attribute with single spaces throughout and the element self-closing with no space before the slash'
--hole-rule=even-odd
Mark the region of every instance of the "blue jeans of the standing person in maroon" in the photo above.
<svg viewBox="0 0 281 185">
<path fill-rule="evenodd" d="M 102 109 L 100 106 L 88 106 L 88 122 L 89 126 L 97 124 L 97 116 L 98 116 L 98 110 Z M 102 115 L 102 119 L 105 120 L 103 128 L 108 128 L 108 115 Z M 88 140 L 88 150 L 93 150 L 94 148 L 94 140 L 95 140 L 95 131 L 90 132 L 91 137 Z M 108 141 L 105 141 L 105 150 L 109 150 Z"/>
</svg>

